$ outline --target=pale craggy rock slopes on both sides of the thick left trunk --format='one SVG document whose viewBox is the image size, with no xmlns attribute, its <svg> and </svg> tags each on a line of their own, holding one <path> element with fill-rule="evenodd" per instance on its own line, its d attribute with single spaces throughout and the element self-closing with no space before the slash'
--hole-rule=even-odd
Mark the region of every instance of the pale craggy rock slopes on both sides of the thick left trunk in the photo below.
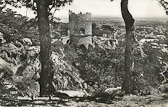
<svg viewBox="0 0 168 107">
<path fill-rule="evenodd" d="M 38 78 L 41 69 L 40 47 L 31 46 L 31 40 L 28 38 L 23 41 L 24 43 L 19 41 L 5 43 L 0 47 L 0 69 L 8 68 L 12 71 L 11 84 L 25 95 L 38 96 Z M 62 52 L 53 51 L 51 55 L 55 89 L 82 89 L 83 80 L 80 79 L 78 71 L 64 61 L 64 50 L 60 49 L 60 51 Z"/>
</svg>

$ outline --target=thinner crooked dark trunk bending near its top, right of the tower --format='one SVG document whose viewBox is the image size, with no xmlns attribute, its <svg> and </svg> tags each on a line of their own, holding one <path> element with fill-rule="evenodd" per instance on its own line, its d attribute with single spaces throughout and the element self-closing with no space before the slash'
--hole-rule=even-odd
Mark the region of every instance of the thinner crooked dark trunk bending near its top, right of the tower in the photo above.
<svg viewBox="0 0 168 107">
<path fill-rule="evenodd" d="M 133 92 L 133 81 L 132 81 L 132 71 L 133 71 L 133 45 L 134 45 L 134 19 L 128 10 L 128 0 L 121 0 L 121 12 L 122 17 L 125 22 L 125 77 L 123 81 L 122 89 L 125 94 L 131 94 Z"/>
</svg>

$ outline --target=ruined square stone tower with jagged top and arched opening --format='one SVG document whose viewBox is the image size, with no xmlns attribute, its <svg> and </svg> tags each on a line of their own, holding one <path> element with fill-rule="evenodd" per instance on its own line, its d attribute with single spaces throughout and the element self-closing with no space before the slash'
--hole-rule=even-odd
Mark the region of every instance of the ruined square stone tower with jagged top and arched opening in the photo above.
<svg viewBox="0 0 168 107">
<path fill-rule="evenodd" d="M 84 45 L 88 48 L 92 45 L 92 20 L 91 13 L 75 14 L 69 11 L 69 34 L 73 44 Z"/>
</svg>

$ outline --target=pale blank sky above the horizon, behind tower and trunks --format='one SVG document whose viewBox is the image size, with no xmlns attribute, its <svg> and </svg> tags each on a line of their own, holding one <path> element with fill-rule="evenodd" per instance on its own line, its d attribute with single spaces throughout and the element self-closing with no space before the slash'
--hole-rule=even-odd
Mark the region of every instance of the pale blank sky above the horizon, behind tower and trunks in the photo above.
<svg viewBox="0 0 168 107">
<path fill-rule="evenodd" d="M 73 0 L 71 5 L 65 5 L 57 10 L 56 17 L 68 18 L 69 10 L 75 13 L 90 12 L 92 16 L 121 17 L 121 0 Z M 166 17 L 163 7 L 157 0 L 129 0 L 128 8 L 133 17 Z M 18 13 L 34 17 L 28 9 L 17 9 Z"/>
</svg>

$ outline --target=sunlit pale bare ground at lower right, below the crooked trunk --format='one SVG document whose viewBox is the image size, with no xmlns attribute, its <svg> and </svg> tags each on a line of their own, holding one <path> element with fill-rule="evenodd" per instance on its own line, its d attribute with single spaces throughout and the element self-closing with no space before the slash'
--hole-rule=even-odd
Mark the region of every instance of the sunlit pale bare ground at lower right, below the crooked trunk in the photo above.
<svg viewBox="0 0 168 107">
<path fill-rule="evenodd" d="M 122 99 L 115 99 L 110 104 L 100 102 L 74 102 L 70 101 L 60 107 L 168 107 L 168 99 L 162 96 L 124 96 Z"/>
</svg>

